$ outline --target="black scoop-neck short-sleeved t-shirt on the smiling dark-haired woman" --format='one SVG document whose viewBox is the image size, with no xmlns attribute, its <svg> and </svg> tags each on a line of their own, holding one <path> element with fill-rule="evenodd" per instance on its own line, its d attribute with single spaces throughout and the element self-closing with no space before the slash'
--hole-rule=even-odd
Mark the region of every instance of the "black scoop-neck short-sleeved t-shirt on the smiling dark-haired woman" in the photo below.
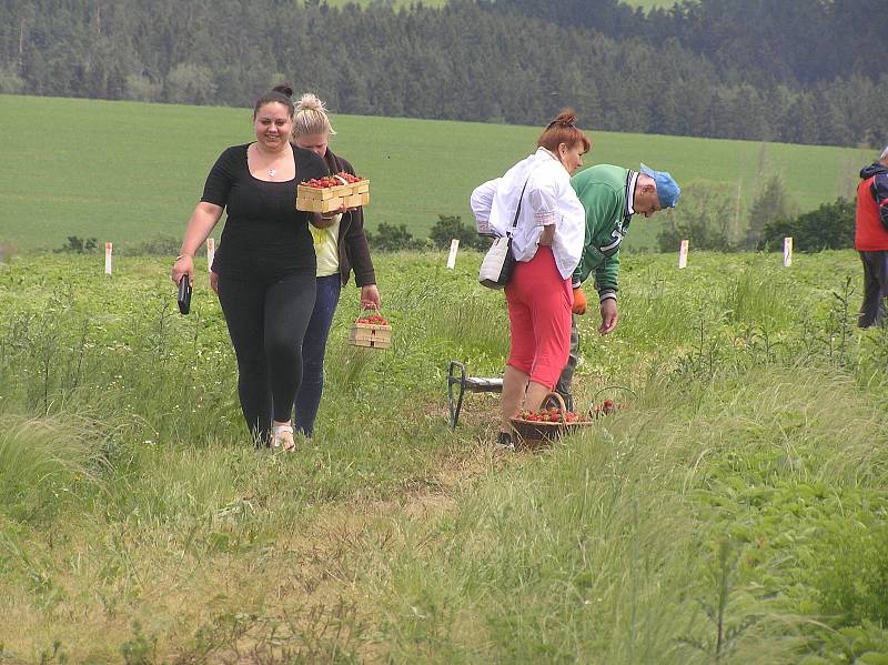
<svg viewBox="0 0 888 665">
<path fill-rule="evenodd" d="M 315 271 L 309 213 L 296 210 L 296 183 L 329 173 L 324 160 L 293 145 L 296 177 L 265 182 L 250 173 L 244 145 L 233 145 L 216 160 L 201 201 L 228 212 L 213 272 L 235 280 L 279 280 Z"/>
</svg>

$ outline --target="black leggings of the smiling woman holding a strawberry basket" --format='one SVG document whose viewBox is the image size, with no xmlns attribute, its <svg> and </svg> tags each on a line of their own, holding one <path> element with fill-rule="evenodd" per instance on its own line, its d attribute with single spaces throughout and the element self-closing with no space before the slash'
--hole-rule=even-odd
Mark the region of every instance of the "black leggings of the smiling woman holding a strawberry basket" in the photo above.
<svg viewBox="0 0 888 665">
<path fill-rule="evenodd" d="M 287 422 L 292 415 L 314 295 L 314 271 L 272 283 L 219 276 L 219 302 L 238 356 L 238 394 L 256 443 L 268 442 L 272 417 Z"/>
</svg>

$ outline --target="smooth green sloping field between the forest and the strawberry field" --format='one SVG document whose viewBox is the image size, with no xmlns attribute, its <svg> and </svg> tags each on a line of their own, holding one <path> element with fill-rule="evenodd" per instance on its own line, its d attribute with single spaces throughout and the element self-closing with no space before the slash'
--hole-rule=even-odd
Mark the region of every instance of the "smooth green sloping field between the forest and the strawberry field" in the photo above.
<svg viewBox="0 0 888 665">
<path fill-rule="evenodd" d="M 334 127 L 333 149 L 372 181 L 369 226 L 406 224 L 420 238 L 438 214 L 471 223 L 472 189 L 528 154 L 541 131 L 353 115 L 335 117 Z M 0 243 L 20 250 L 54 249 L 69 235 L 118 246 L 180 236 L 219 153 L 253 139 L 244 109 L 16 95 L 0 95 Z M 587 164 L 644 161 L 684 185 L 722 183 L 726 197 L 739 192 L 747 204 L 763 178 L 779 173 L 803 211 L 850 193 L 872 159 L 842 148 L 591 134 Z M 627 246 L 650 246 L 657 229 L 657 222 L 634 224 Z"/>
</svg>

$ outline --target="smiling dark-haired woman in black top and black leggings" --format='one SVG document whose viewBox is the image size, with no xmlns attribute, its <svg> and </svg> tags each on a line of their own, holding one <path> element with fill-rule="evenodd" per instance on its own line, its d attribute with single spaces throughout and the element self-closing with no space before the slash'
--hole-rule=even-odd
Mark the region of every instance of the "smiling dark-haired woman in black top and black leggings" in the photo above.
<svg viewBox="0 0 888 665">
<path fill-rule="evenodd" d="M 302 337 L 314 308 L 315 258 L 307 224 L 333 223 L 295 209 L 296 183 L 327 174 L 324 161 L 290 143 L 291 88 L 279 85 L 253 109 L 256 141 L 216 160 L 173 264 L 176 284 L 194 281 L 194 253 L 224 210 L 213 261 L 219 301 L 238 356 L 238 392 L 258 445 L 293 450 L 291 415 L 302 380 Z"/>
</svg>

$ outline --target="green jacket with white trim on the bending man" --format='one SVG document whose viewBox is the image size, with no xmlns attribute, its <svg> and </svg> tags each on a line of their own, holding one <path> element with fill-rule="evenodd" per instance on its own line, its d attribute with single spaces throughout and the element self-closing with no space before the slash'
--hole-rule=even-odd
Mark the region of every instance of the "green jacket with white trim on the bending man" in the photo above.
<svg viewBox="0 0 888 665">
<path fill-rule="evenodd" d="M 586 211 L 586 239 L 573 284 L 577 288 L 595 271 L 595 290 L 602 300 L 616 298 L 619 243 L 629 230 L 629 204 L 637 178 L 637 171 L 598 164 L 571 179 Z"/>
</svg>

